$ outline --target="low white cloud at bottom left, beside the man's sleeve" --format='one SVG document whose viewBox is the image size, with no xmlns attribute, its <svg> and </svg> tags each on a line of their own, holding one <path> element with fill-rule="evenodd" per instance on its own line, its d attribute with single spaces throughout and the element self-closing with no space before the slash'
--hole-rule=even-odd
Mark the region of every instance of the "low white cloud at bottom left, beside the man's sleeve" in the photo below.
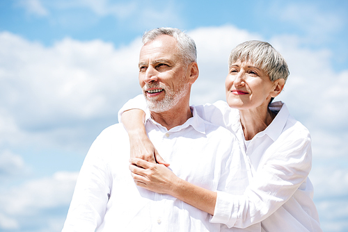
<svg viewBox="0 0 348 232">
<path fill-rule="evenodd" d="M 38 217 L 43 224 L 54 229 L 52 231 L 61 229 L 65 215 L 56 218 L 44 212 L 49 212 L 50 208 L 69 206 L 77 175 L 77 172 L 56 172 L 53 176 L 3 190 L 0 199 L 0 230 L 22 228 L 31 224 L 32 218 Z M 47 228 L 43 231 L 47 231 Z"/>
</svg>

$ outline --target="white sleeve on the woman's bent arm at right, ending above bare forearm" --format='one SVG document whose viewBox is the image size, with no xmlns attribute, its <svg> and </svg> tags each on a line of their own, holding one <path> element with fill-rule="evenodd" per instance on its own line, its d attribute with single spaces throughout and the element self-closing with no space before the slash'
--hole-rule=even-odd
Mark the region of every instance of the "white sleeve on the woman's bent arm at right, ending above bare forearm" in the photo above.
<svg viewBox="0 0 348 232">
<path fill-rule="evenodd" d="M 269 217 L 292 197 L 307 179 L 312 163 L 309 133 L 306 138 L 294 134 L 263 154 L 263 164 L 244 194 L 218 192 L 211 222 L 246 228 Z"/>
</svg>

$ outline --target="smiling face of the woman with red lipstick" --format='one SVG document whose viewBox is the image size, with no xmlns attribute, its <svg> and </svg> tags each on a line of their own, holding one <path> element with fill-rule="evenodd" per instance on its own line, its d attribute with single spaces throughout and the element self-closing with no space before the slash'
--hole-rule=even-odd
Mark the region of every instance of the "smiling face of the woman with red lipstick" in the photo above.
<svg viewBox="0 0 348 232">
<path fill-rule="evenodd" d="M 239 110 L 267 107 L 271 97 L 278 95 L 274 96 L 276 83 L 269 80 L 266 72 L 250 62 L 233 63 L 225 84 L 228 105 Z"/>
</svg>

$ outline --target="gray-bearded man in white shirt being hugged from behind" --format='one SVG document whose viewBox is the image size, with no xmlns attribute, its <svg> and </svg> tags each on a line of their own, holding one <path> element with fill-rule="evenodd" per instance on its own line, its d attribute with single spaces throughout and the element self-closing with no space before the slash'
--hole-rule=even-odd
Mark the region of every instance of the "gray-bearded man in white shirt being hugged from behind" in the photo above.
<svg viewBox="0 0 348 232">
<path fill-rule="evenodd" d="M 245 163 L 237 140 L 189 106 L 197 78 L 196 45 L 189 36 L 175 28 L 143 35 L 139 83 L 150 110 L 145 130 L 155 147 L 181 179 L 207 190 L 226 185 L 242 190 L 248 183 L 240 172 Z M 175 197 L 137 186 L 129 171 L 127 132 L 115 124 L 88 151 L 63 228 L 67 231 L 201 232 L 221 231 L 221 225 Z"/>
</svg>

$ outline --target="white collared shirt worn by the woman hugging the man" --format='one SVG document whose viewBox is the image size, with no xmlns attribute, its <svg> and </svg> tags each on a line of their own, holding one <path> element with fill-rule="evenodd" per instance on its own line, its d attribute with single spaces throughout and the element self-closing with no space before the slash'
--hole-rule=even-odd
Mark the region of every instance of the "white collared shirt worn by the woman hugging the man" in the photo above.
<svg viewBox="0 0 348 232">
<path fill-rule="evenodd" d="M 140 95 L 122 107 L 144 110 Z M 250 185 L 244 194 L 231 194 L 234 186 L 219 192 L 214 217 L 210 222 L 228 227 L 245 228 L 261 222 L 264 232 L 322 231 L 313 203 L 313 185 L 308 179 L 312 165 L 310 133 L 288 112 L 285 103 L 271 103 L 279 111 L 271 124 L 255 137 L 244 142 L 239 110 L 225 101 L 194 106 L 203 119 L 226 127 L 241 144 Z M 242 230 L 243 231 L 243 230 Z"/>
</svg>

